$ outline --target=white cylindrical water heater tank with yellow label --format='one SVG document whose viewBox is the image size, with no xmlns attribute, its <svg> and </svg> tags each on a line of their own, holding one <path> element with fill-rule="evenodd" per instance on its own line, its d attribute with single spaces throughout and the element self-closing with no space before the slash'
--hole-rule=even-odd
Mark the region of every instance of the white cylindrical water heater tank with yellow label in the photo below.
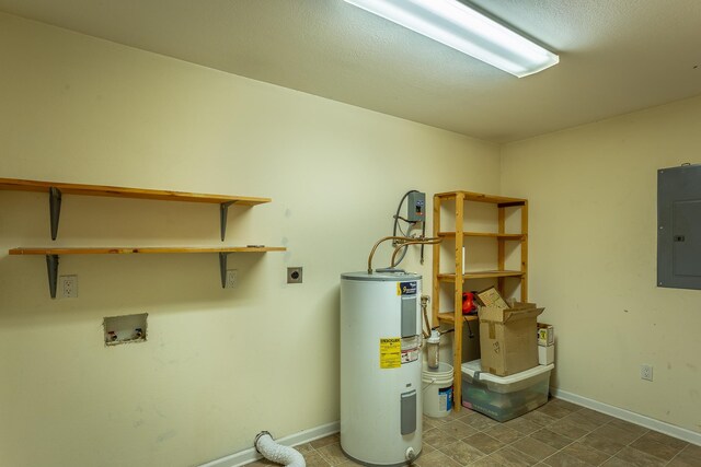
<svg viewBox="0 0 701 467">
<path fill-rule="evenodd" d="M 406 465 L 422 448 L 421 276 L 341 275 L 341 447 Z"/>
</svg>

